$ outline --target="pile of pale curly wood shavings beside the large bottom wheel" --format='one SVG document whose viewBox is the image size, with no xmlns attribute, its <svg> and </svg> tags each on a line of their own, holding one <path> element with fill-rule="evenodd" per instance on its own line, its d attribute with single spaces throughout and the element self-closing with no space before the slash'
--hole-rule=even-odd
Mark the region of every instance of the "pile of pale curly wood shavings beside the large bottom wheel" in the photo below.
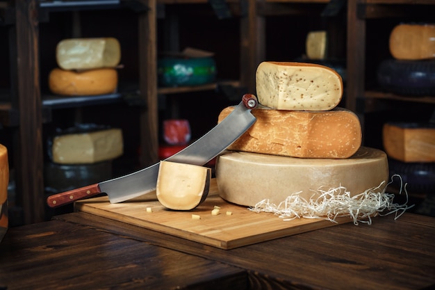
<svg viewBox="0 0 435 290">
<path fill-rule="evenodd" d="M 385 193 L 388 184 L 393 182 L 393 178 L 400 178 L 401 186 L 407 195 L 407 201 L 404 204 L 393 203 L 395 195 L 393 193 Z M 336 218 L 342 216 L 350 216 L 354 221 L 354 225 L 359 223 L 372 224 L 372 217 L 386 216 L 395 214 L 395 219 L 399 218 L 404 211 L 413 207 L 408 206 L 407 184 L 402 184 L 400 175 L 393 175 L 391 182 L 384 186 L 385 182 L 379 184 L 375 188 L 369 188 L 363 193 L 351 196 L 350 192 L 344 186 L 338 188 L 330 188 L 327 191 L 320 188 L 318 198 L 305 200 L 299 197 L 299 193 L 289 195 L 286 200 L 280 204 L 272 204 L 269 200 L 258 202 L 255 207 L 249 208 L 254 212 L 269 212 L 273 213 L 283 220 L 294 220 L 295 218 L 324 218 L 333 223 Z M 384 186 L 384 187 L 382 187 Z"/>
</svg>

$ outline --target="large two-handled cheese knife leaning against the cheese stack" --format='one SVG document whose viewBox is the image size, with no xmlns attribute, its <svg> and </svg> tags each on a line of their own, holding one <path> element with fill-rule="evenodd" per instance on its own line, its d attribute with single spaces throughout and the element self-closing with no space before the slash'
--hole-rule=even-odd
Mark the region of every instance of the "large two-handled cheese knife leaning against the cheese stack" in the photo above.
<svg viewBox="0 0 435 290">
<path fill-rule="evenodd" d="M 229 145 L 254 124 L 256 118 L 252 115 L 251 110 L 257 104 L 258 101 L 254 95 L 243 95 L 240 104 L 227 118 L 224 118 L 222 122 L 194 143 L 177 154 L 168 157 L 165 161 L 204 166 L 208 161 L 226 150 Z M 156 189 L 159 166 L 160 163 L 156 163 L 129 175 L 50 195 L 47 198 L 47 204 L 49 207 L 60 207 L 100 193 L 106 193 L 111 203 L 117 203 L 151 193 Z"/>
</svg>

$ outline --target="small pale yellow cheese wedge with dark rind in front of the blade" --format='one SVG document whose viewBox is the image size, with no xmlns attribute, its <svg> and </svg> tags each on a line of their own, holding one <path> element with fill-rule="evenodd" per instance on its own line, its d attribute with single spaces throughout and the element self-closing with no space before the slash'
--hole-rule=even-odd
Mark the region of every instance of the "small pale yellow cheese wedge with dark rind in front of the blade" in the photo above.
<svg viewBox="0 0 435 290">
<path fill-rule="evenodd" d="M 161 161 L 157 177 L 157 199 L 167 209 L 195 209 L 206 199 L 210 182 L 211 168 Z"/>
</svg>

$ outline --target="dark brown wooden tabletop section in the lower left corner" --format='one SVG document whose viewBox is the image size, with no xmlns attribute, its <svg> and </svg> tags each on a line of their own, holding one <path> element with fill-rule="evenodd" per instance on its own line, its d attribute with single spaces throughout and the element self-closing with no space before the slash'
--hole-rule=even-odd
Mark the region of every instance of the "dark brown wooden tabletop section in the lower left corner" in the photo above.
<svg viewBox="0 0 435 290">
<path fill-rule="evenodd" d="M 247 289 L 243 269 L 53 220 L 8 229 L 1 289 Z"/>
</svg>

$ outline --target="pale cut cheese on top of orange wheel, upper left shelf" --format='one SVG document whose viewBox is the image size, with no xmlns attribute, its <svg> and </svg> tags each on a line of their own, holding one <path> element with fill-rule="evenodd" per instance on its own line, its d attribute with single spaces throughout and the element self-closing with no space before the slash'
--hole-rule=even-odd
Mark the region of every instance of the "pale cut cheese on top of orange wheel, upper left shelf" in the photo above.
<svg viewBox="0 0 435 290">
<path fill-rule="evenodd" d="M 116 38 L 71 38 L 56 46 L 56 60 L 63 70 L 116 67 L 121 60 Z"/>
</svg>

